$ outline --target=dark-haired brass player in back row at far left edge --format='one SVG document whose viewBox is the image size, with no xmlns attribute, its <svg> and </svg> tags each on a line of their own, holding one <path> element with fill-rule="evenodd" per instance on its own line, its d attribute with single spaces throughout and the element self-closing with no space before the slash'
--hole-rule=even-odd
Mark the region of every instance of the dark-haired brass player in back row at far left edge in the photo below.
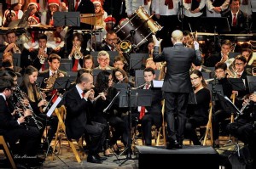
<svg viewBox="0 0 256 169">
<path fill-rule="evenodd" d="M 5 42 L 5 48 L 3 48 L 3 53 L 13 53 L 13 54 L 20 54 L 22 51 L 22 46 L 17 43 L 18 36 L 14 30 L 9 30 L 6 32 L 7 42 Z"/>
</svg>

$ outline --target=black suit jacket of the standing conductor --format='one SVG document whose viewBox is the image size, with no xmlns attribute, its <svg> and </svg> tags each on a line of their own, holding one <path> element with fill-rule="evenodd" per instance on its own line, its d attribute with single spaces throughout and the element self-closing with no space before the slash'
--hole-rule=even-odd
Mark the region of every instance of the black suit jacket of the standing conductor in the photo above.
<svg viewBox="0 0 256 169">
<path fill-rule="evenodd" d="M 159 54 L 159 47 L 154 47 L 153 59 L 156 62 L 166 61 L 167 72 L 162 87 L 164 92 L 191 93 L 189 69 L 191 64 L 201 65 L 201 52 L 192 48 L 186 48 L 183 44 L 164 48 Z"/>
</svg>

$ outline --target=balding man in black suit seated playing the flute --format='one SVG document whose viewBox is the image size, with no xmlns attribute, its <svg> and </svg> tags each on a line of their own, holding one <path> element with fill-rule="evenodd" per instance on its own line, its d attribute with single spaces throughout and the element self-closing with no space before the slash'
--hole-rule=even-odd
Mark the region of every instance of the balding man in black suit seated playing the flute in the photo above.
<svg viewBox="0 0 256 169">
<path fill-rule="evenodd" d="M 67 107 L 66 132 L 68 139 L 90 138 L 89 154 L 87 162 L 102 163 L 98 155 L 102 148 L 102 133 L 104 128 L 91 123 L 87 116 L 93 111 L 94 91 L 93 76 L 89 73 L 83 73 L 79 77 L 79 82 L 70 89 L 65 96 L 65 105 Z"/>
</svg>

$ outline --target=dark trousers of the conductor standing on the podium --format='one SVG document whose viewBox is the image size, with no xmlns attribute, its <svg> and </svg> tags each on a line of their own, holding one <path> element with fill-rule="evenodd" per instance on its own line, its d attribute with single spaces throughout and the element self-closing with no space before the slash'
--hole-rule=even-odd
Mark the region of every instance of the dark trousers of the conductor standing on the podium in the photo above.
<svg viewBox="0 0 256 169">
<path fill-rule="evenodd" d="M 186 112 L 189 93 L 165 93 L 165 119 L 167 123 L 167 139 L 183 143 L 183 132 L 186 124 Z"/>
</svg>

